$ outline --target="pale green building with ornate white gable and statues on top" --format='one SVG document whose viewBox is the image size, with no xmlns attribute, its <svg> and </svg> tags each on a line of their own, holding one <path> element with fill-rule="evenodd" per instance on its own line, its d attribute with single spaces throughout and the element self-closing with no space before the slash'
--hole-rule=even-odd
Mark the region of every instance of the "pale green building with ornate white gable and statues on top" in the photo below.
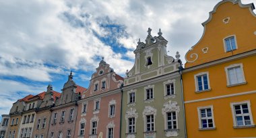
<svg viewBox="0 0 256 138">
<path fill-rule="evenodd" d="M 176 59 L 166 54 L 167 40 L 151 36 L 138 42 L 135 64 L 124 79 L 121 137 L 185 137 L 183 94 Z"/>
</svg>

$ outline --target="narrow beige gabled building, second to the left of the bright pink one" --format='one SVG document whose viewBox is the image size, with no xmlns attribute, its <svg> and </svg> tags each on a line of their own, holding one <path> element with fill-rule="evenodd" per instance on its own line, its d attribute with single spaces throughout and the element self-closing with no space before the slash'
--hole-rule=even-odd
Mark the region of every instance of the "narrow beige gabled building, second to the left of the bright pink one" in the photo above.
<svg viewBox="0 0 256 138">
<path fill-rule="evenodd" d="M 55 100 L 59 96 L 61 96 L 61 93 L 54 91 L 53 86 L 49 84 L 47 91 L 44 92 L 44 96 L 42 97 L 42 102 L 40 102 L 40 105 L 36 109 L 36 123 L 34 123 L 32 138 L 48 137 L 51 108 L 55 105 Z"/>
</svg>

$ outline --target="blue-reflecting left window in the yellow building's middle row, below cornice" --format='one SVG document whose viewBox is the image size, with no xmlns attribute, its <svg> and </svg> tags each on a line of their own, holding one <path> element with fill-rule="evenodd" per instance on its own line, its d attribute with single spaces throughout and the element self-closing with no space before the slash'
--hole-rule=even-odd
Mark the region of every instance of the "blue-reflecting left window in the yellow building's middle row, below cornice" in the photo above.
<svg viewBox="0 0 256 138">
<path fill-rule="evenodd" d="M 195 91 L 210 90 L 209 73 L 200 72 L 195 74 Z"/>
</svg>

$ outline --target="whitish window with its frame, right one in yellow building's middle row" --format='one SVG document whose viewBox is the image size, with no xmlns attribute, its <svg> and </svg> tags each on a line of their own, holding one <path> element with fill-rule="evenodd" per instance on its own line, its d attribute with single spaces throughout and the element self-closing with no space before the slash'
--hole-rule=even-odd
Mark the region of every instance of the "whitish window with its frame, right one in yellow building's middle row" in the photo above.
<svg viewBox="0 0 256 138">
<path fill-rule="evenodd" d="M 227 84 L 242 84 L 245 82 L 245 75 L 243 72 L 243 64 L 232 64 L 225 68 Z"/>
</svg>

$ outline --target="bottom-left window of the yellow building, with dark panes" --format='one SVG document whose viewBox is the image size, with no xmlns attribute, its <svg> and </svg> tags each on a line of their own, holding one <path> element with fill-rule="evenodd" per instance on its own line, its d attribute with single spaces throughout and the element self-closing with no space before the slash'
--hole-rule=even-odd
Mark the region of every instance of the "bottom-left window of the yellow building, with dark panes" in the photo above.
<svg viewBox="0 0 256 138">
<path fill-rule="evenodd" d="M 213 107 L 198 107 L 199 129 L 214 129 Z"/>
</svg>

